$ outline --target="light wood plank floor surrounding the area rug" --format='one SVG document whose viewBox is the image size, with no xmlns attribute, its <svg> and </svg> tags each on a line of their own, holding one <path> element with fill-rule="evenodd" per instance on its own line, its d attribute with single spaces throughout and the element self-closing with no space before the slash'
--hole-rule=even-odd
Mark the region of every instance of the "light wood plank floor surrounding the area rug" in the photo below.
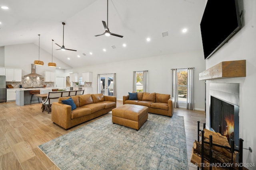
<svg viewBox="0 0 256 170">
<path fill-rule="evenodd" d="M 120 105 L 122 101 L 117 101 L 117 107 Z M 200 121 L 202 129 L 205 113 L 204 111 L 175 109 L 174 115 L 184 116 L 188 162 L 190 162 L 192 145 L 197 139 L 197 121 Z M 66 131 L 52 123 L 51 113 L 42 112 L 41 104 L 18 106 L 15 102 L 0 103 L 0 169 L 58 170 L 58 167 L 37 146 L 86 126 L 101 117 Z M 196 168 L 190 167 L 189 169 Z"/>
</svg>

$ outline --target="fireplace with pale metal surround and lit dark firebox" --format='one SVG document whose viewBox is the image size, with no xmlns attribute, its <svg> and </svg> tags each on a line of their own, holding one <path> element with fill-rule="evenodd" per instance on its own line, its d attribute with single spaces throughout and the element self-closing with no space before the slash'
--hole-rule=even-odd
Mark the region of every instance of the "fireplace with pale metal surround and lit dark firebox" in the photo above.
<svg viewBox="0 0 256 170">
<path fill-rule="evenodd" d="M 239 138 L 239 84 L 210 83 L 210 128 L 234 140 Z"/>
</svg>

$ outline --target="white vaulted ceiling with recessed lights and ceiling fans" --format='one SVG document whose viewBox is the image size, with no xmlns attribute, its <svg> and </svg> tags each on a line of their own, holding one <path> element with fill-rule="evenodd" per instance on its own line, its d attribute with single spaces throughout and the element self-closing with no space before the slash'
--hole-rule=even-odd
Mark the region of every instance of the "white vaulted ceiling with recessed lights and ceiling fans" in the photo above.
<svg viewBox="0 0 256 170">
<path fill-rule="evenodd" d="M 108 0 L 108 28 L 123 38 L 94 36 L 105 31 L 107 0 L 1 0 L 0 6 L 9 7 L 0 8 L 0 47 L 38 45 L 40 34 L 40 47 L 51 54 L 52 39 L 62 45 L 66 23 L 64 46 L 77 51 L 54 50 L 54 57 L 69 68 L 202 50 L 205 0 Z"/>
</svg>

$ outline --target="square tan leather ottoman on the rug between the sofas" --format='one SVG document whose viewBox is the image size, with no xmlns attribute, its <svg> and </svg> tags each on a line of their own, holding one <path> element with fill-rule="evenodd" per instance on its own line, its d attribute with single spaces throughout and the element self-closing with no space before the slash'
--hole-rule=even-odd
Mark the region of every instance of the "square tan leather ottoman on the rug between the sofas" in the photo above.
<svg viewBox="0 0 256 170">
<path fill-rule="evenodd" d="M 126 127 L 136 129 L 148 120 L 148 107 L 124 104 L 123 106 L 112 109 L 112 122 Z"/>
</svg>

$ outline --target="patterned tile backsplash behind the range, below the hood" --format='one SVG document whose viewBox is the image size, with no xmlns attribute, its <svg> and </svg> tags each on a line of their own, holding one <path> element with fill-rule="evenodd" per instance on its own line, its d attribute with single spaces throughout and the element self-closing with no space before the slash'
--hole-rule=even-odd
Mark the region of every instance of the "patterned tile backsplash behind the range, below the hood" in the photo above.
<svg viewBox="0 0 256 170">
<path fill-rule="evenodd" d="M 22 82 L 6 82 L 11 84 L 13 88 L 20 88 L 20 84 L 23 88 L 25 87 L 53 87 L 54 82 L 44 82 L 44 77 L 22 77 Z"/>
</svg>

